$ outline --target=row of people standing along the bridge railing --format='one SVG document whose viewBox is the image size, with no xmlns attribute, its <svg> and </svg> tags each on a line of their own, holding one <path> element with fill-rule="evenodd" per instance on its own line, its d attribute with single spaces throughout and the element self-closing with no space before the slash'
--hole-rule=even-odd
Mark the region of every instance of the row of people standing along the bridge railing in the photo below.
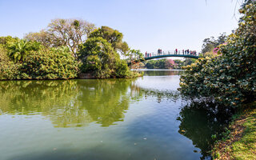
<svg viewBox="0 0 256 160">
<path fill-rule="evenodd" d="M 170 51 L 168 52 L 164 52 L 162 51 L 162 49 L 158 49 L 158 52 L 157 54 L 154 54 L 154 53 L 148 53 L 146 51 L 145 53 L 145 58 L 149 58 L 149 57 L 153 57 L 153 56 L 157 56 L 157 55 L 166 55 L 166 54 L 171 54 Z M 174 50 L 174 54 L 183 54 L 183 55 L 197 55 L 197 51 L 196 50 L 182 50 L 182 53 L 181 53 L 181 50 L 178 50 L 177 48 Z"/>
</svg>

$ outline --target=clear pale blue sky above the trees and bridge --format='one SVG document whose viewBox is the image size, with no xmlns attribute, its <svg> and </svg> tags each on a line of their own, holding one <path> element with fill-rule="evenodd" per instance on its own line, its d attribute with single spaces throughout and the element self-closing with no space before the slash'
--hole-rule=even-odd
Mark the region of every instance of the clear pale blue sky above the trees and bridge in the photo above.
<svg viewBox="0 0 256 160">
<path fill-rule="evenodd" d="M 230 34 L 236 0 L 0 0 L 0 36 L 22 38 L 54 18 L 82 18 L 124 34 L 133 49 L 201 50 L 202 40 Z M 237 7 L 238 8 L 238 7 Z M 238 18 L 238 14 L 236 15 Z"/>
</svg>

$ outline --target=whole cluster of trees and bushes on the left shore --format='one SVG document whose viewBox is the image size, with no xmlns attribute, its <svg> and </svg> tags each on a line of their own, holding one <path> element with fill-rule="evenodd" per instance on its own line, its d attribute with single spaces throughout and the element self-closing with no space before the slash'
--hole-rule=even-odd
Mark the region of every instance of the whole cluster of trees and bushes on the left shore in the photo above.
<svg viewBox="0 0 256 160">
<path fill-rule="evenodd" d="M 122 37 L 118 30 L 78 19 L 54 19 L 46 29 L 23 39 L 1 37 L 0 80 L 139 76 L 120 59 L 120 54 L 140 54 L 134 54 Z"/>
</svg>

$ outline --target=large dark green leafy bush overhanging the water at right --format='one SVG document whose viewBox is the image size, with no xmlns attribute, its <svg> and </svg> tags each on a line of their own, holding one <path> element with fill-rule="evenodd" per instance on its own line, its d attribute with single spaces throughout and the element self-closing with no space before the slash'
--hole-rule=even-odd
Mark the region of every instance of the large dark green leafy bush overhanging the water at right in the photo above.
<svg viewBox="0 0 256 160">
<path fill-rule="evenodd" d="M 240 10 L 238 29 L 219 46 L 217 58 L 199 58 L 184 67 L 181 90 L 190 96 L 213 97 L 226 106 L 256 98 L 256 2 Z"/>
</svg>

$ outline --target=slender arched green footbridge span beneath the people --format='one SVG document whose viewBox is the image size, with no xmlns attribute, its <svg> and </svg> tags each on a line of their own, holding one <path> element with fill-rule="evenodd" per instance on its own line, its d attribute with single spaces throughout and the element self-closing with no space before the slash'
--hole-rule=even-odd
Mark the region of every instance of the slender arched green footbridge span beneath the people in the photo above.
<svg viewBox="0 0 256 160">
<path fill-rule="evenodd" d="M 197 55 L 193 55 L 193 54 L 160 54 L 160 55 L 153 55 L 150 57 L 146 57 L 146 58 L 140 58 L 140 59 L 136 59 L 134 60 L 134 62 L 143 62 L 143 61 L 147 61 L 150 59 L 156 59 L 156 58 L 170 58 L 170 57 L 178 57 L 178 58 L 195 58 L 198 59 L 199 56 Z M 130 66 L 131 62 L 128 62 L 128 66 Z"/>
</svg>

